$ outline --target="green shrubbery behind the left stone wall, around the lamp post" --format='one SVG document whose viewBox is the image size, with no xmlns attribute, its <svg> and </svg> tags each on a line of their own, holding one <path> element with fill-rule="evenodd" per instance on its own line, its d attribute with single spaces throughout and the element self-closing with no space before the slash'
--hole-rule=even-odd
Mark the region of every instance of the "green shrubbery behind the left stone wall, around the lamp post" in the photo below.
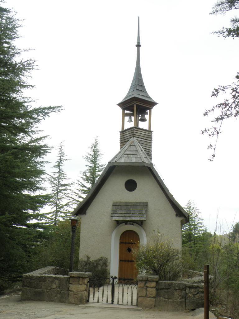
<svg viewBox="0 0 239 319">
<path fill-rule="evenodd" d="M 69 269 L 71 247 L 71 224 L 69 220 L 57 221 L 55 226 L 49 225 L 45 230 L 45 239 L 35 248 L 32 268 L 34 270 L 46 266 L 57 266 Z M 73 271 L 78 271 L 80 245 L 80 221 L 76 227 Z"/>
</svg>

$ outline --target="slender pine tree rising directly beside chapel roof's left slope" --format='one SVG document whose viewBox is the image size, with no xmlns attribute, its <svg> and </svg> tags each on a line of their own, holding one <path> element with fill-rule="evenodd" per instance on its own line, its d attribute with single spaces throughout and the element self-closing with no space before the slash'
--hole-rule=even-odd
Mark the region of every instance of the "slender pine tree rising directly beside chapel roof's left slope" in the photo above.
<svg viewBox="0 0 239 319">
<path fill-rule="evenodd" d="M 102 154 L 100 152 L 99 141 L 97 137 L 89 148 L 90 152 L 87 152 L 83 157 L 83 159 L 85 159 L 88 163 L 85 165 L 87 169 L 81 172 L 80 179 L 76 181 L 76 189 L 72 195 L 75 205 L 79 204 L 89 193 L 105 167 L 105 165 L 101 164 Z"/>
</svg>

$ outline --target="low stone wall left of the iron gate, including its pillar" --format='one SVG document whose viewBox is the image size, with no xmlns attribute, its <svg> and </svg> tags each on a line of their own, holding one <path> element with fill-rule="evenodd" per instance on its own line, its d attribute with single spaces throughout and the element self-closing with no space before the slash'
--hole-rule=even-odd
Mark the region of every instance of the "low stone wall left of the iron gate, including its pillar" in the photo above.
<svg viewBox="0 0 239 319">
<path fill-rule="evenodd" d="M 90 276 L 48 266 L 23 275 L 21 299 L 85 304 Z"/>
</svg>

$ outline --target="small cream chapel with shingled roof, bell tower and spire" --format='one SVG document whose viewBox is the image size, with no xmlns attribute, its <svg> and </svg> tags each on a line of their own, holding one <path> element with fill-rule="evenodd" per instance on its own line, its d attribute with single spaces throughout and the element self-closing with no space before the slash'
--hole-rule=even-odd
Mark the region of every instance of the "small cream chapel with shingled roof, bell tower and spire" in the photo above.
<svg viewBox="0 0 239 319">
<path fill-rule="evenodd" d="M 159 230 L 175 248 L 182 249 L 182 226 L 188 221 L 188 214 L 152 163 L 151 116 L 158 103 L 148 95 L 143 82 L 140 47 L 138 19 L 134 77 L 127 95 L 117 104 L 122 109 L 120 150 L 73 211 L 81 218 L 79 258 L 107 257 L 110 275 L 127 280 L 137 277 L 134 245 L 146 245 Z M 132 122 L 127 129 L 126 118 Z M 146 121 L 148 128 L 141 128 Z"/>
</svg>

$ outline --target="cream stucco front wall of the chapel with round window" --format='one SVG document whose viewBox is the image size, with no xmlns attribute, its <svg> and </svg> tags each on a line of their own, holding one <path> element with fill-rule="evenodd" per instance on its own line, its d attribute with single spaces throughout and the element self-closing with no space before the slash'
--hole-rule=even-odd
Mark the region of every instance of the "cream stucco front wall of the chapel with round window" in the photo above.
<svg viewBox="0 0 239 319">
<path fill-rule="evenodd" d="M 128 192 L 124 187 L 128 179 L 137 182 L 137 188 L 133 192 Z M 85 255 L 91 256 L 91 259 L 105 256 L 110 263 L 112 233 L 118 226 L 116 221 L 110 220 L 114 201 L 148 202 L 147 220 L 142 225 L 147 239 L 158 228 L 172 239 L 176 248 L 181 249 L 182 218 L 175 216 L 175 211 L 148 168 L 119 166 L 109 176 L 86 215 L 81 216 L 80 258 L 84 258 Z"/>
</svg>

